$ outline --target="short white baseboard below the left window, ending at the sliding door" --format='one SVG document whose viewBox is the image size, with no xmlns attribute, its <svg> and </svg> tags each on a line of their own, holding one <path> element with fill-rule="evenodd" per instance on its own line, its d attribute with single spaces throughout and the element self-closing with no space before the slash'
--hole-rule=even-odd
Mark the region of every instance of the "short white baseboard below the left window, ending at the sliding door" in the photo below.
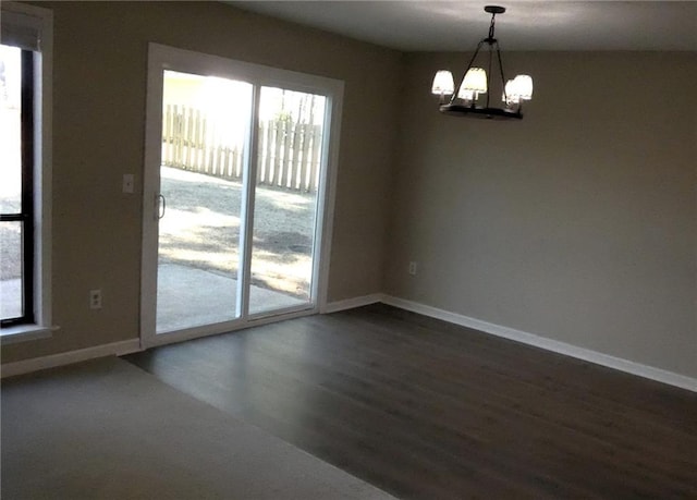
<svg viewBox="0 0 697 500">
<path fill-rule="evenodd" d="M 0 378 L 14 375 L 28 374 L 39 369 L 53 368 L 56 366 L 70 365 L 87 359 L 103 356 L 122 356 L 140 351 L 140 339 L 124 340 L 94 347 L 80 349 L 65 353 L 51 354 L 50 356 L 34 357 L 32 359 L 7 363 L 0 367 Z"/>
</svg>

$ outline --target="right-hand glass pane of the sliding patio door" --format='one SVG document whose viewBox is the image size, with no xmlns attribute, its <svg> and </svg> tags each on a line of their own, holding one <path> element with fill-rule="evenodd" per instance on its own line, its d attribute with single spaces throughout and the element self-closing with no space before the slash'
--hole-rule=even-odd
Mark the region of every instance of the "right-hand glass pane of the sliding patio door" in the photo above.
<svg viewBox="0 0 697 500">
<path fill-rule="evenodd" d="M 311 302 L 325 106 L 261 87 L 249 314 Z"/>
</svg>

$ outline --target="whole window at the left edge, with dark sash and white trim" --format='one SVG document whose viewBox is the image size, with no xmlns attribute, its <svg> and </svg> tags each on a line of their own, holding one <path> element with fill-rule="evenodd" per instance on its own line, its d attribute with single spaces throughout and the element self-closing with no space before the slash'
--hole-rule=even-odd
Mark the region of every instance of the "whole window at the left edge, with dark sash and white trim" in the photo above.
<svg viewBox="0 0 697 500">
<path fill-rule="evenodd" d="M 50 326 L 51 13 L 3 3 L 0 37 L 0 326 Z"/>
</svg>

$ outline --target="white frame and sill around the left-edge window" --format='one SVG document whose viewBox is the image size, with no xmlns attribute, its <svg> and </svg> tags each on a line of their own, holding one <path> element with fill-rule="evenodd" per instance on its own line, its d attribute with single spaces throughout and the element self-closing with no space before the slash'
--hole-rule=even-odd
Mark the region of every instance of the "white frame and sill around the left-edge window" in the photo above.
<svg viewBox="0 0 697 500">
<path fill-rule="evenodd" d="M 7 345 L 47 338 L 58 327 L 51 322 L 51 151 L 53 12 L 24 3 L 1 2 L 2 23 L 32 33 L 40 50 L 35 57 L 34 99 L 34 315 L 35 322 L 0 330 Z"/>
</svg>

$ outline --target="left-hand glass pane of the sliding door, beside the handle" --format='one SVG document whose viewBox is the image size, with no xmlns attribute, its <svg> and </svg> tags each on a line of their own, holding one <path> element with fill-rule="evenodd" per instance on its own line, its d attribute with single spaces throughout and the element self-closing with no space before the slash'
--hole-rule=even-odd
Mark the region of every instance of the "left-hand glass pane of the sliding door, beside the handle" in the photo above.
<svg viewBox="0 0 697 500">
<path fill-rule="evenodd" d="M 240 317 L 240 220 L 252 85 L 164 72 L 157 332 Z"/>
</svg>

